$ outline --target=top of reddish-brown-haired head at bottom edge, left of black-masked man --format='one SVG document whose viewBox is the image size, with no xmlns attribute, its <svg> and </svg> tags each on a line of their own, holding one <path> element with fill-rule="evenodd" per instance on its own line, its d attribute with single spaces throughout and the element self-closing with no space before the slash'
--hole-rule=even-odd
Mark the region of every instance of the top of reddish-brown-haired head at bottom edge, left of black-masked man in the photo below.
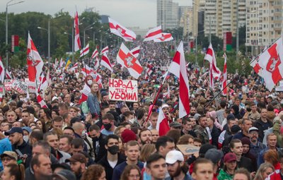
<svg viewBox="0 0 283 180">
<path fill-rule="evenodd" d="M 106 180 L 106 173 L 103 166 L 94 164 L 86 169 L 81 180 Z"/>
</svg>

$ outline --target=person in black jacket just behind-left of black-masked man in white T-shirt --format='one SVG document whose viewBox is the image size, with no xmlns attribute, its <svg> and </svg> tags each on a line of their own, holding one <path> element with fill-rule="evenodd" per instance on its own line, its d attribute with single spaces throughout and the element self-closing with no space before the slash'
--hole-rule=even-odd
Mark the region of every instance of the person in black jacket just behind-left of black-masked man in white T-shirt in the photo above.
<svg viewBox="0 0 283 180">
<path fill-rule="evenodd" d="M 100 133 L 100 128 L 96 124 L 93 124 L 89 127 L 88 136 L 93 140 L 95 162 L 98 162 L 107 152 L 107 150 L 105 149 L 106 136 Z"/>
</svg>

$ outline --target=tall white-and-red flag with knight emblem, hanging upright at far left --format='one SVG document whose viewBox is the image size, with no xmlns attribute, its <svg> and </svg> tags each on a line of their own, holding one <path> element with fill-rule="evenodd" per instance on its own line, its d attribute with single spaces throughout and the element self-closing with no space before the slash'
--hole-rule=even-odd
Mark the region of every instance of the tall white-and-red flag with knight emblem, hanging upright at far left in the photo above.
<svg viewBox="0 0 283 180">
<path fill-rule="evenodd" d="M 40 54 L 37 52 L 33 40 L 30 37 L 30 32 L 28 32 L 27 64 L 30 92 L 35 92 L 37 83 L 40 83 L 40 74 L 42 72 L 44 63 L 40 57 Z"/>
</svg>

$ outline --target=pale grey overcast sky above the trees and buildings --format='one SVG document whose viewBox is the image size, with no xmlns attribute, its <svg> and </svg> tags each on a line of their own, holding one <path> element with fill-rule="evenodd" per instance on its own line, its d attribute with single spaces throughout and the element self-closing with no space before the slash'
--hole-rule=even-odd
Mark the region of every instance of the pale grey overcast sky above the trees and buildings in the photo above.
<svg viewBox="0 0 283 180">
<path fill-rule="evenodd" d="M 15 2 L 21 0 L 15 0 Z M 189 6 L 191 0 L 173 0 L 179 5 Z M 8 0 L 0 0 L 0 11 L 6 11 Z M 21 4 L 8 6 L 8 12 L 23 13 L 37 11 L 47 14 L 57 13 L 60 9 L 73 16 L 76 8 L 81 14 L 88 7 L 100 15 L 108 15 L 127 27 L 149 28 L 156 26 L 156 0 L 25 0 Z"/>
</svg>

